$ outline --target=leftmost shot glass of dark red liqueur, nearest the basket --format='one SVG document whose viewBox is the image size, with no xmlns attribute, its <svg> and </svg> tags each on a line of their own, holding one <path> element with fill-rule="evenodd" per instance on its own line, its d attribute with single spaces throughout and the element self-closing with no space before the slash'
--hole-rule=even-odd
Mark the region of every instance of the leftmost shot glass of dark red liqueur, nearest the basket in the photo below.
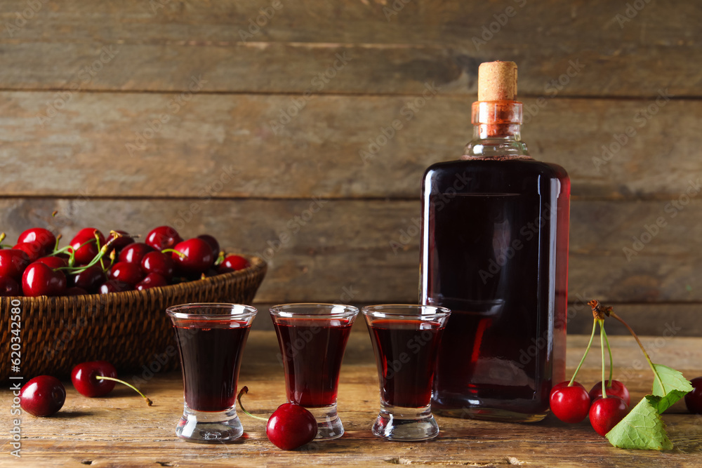
<svg viewBox="0 0 702 468">
<path fill-rule="evenodd" d="M 183 417 L 176 435 L 189 442 L 227 443 L 244 434 L 235 407 L 246 337 L 256 308 L 185 304 L 166 313 L 176 331 L 183 368 Z"/>
</svg>

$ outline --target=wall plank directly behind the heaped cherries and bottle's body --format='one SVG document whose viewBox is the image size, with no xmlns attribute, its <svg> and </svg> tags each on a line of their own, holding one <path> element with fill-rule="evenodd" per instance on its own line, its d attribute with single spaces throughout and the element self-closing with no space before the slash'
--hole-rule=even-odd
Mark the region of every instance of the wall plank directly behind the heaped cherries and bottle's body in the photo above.
<svg viewBox="0 0 702 468">
<path fill-rule="evenodd" d="M 667 203 L 574 201 L 571 299 L 702 300 L 696 248 L 702 203 L 691 201 L 674 218 L 665 212 Z M 60 215 L 51 218 L 53 210 Z M 23 229 L 47 224 L 67 239 L 84 226 L 145 235 L 157 225 L 173 225 L 185 237 L 208 232 L 224 248 L 267 260 L 260 302 L 415 302 L 419 213 L 418 201 L 392 200 L 0 200 L 0 225 L 11 240 Z M 633 236 L 642 238 L 661 217 L 667 225 L 637 253 Z M 623 248 L 636 255 L 628 260 Z"/>
</svg>

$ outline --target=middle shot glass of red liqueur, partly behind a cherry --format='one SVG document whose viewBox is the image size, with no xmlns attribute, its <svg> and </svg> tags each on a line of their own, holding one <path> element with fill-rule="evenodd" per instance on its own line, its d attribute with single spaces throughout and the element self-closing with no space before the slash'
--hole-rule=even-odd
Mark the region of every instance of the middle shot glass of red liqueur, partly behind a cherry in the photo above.
<svg viewBox="0 0 702 468">
<path fill-rule="evenodd" d="M 318 440 L 336 439 L 344 427 L 336 412 L 339 369 L 358 309 L 336 304 L 270 308 L 285 373 L 286 396 L 317 419 Z"/>
</svg>

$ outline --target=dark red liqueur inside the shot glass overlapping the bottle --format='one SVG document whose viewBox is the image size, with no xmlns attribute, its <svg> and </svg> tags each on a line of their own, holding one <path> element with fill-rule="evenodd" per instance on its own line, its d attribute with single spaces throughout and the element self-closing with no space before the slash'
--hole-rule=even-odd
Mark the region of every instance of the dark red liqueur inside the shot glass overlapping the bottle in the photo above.
<svg viewBox="0 0 702 468">
<path fill-rule="evenodd" d="M 428 406 L 442 326 L 438 322 L 376 320 L 370 328 L 380 398 L 392 406 Z"/>
</svg>

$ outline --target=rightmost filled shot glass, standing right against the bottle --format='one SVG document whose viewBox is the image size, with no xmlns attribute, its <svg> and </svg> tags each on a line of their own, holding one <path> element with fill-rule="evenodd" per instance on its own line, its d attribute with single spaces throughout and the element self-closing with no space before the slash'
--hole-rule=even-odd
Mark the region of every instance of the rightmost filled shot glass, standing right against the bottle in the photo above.
<svg viewBox="0 0 702 468">
<path fill-rule="evenodd" d="M 373 434 L 390 441 L 436 437 L 439 425 L 431 409 L 432 380 L 451 312 L 431 305 L 373 305 L 362 312 L 380 382 L 380 413 Z"/>
</svg>

